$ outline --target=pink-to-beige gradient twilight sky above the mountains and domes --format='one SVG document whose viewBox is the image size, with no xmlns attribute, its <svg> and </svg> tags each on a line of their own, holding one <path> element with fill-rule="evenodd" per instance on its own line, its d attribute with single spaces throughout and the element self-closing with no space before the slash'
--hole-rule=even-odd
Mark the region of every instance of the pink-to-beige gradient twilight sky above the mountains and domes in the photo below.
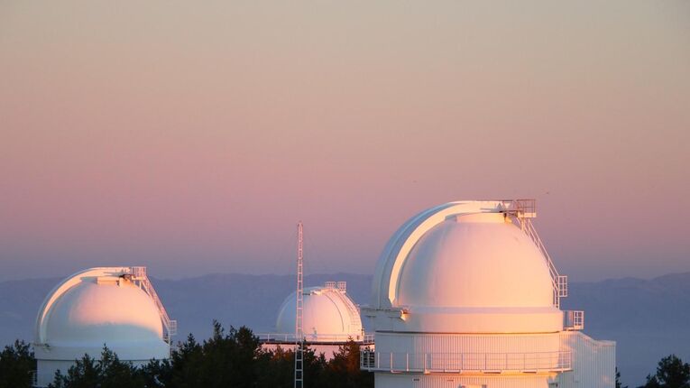
<svg viewBox="0 0 690 388">
<path fill-rule="evenodd" d="M 373 273 L 536 198 L 572 280 L 690 271 L 690 2 L 0 0 L 0 280 Z"/>
</svg>

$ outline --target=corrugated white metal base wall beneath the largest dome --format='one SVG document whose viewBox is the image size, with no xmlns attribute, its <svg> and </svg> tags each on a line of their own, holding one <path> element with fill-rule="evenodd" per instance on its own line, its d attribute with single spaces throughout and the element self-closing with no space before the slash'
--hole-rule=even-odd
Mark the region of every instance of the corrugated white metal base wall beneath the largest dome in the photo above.
<svg viewBox="0 0 690 388">
<path fill-rule="evenodd" d="M 381 333 L 382 352 L 544 352 L 571 353 L 573 370 L 564 374 L 391 374 L 376 373 L 376 388 L 614 388 L 615 342 L 597 341 L 579 331 L 534 335 L 437 335 Z"/>
</svg>

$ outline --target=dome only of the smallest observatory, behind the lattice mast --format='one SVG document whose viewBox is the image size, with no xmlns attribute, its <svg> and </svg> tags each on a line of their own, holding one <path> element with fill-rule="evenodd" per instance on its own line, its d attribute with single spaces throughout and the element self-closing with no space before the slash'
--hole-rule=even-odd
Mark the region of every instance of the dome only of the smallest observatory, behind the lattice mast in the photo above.
<svg viewBox="0 0 690 388">
<path fill-rule="evenodd" d="M 345 293 L 345 282 L 327 282 L 303 292 L 303 329 L 308 342 L 345 342 L 363 336 L 362 319 L 354 302 Z M 279 333 L 295 332 L 297 293 L 282 302 L 276 322 Z"/>
</svg>

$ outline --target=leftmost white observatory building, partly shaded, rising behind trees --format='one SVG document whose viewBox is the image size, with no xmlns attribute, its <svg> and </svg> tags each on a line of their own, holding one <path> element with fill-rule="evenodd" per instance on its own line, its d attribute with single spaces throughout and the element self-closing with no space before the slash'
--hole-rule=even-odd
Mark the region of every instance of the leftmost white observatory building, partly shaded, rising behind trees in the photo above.
<svg viewBox="0 0 690 388">
<path fill-rule="evenodd" d="M 85 354 L 100 358 L 104 344 L 123 361 L 143 365 L 170 357 L 170 320 L 145 267 L 101 267 L 75 273 L 43 301 L 33 344 L 36 386 L 67 374 Z"/>
</svg>

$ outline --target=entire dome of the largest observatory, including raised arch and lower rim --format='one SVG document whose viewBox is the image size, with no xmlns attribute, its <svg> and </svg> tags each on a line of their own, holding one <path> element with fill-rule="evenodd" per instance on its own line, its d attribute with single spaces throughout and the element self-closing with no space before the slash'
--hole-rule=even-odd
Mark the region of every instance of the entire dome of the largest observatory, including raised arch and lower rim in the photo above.
<svg viewBox="0 0 690 388">
<path fill-rule="evenodd" d="M 510 202 L 429 208 L 398 229 L 373 276 L 380 330 L 556 332 L 563 315 L 547 258 L 511 221 Z M 389 311 L 382 314 L 382 311 Z M 400 318 L 394 319 L 400 311 Z M 382 319 L 384 315 L 393 319 Z"/>
</svg>

